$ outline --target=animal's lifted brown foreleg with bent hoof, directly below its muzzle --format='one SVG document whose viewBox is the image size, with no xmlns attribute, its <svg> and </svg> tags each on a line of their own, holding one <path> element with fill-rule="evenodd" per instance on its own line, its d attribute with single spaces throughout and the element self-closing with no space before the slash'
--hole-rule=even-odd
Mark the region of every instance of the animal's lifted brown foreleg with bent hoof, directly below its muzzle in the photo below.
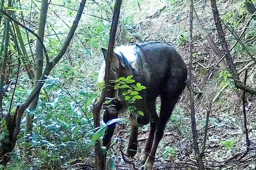
<svg viewBox="0 0 256 170">
<path fill-rule="evenodd" d="M 132 130 L 131 130 L 129 143 L 126 145 L 126 148 L 125 148 L 125 154 L 128 157 L 134 157 L 137 153 L 137 148 L 138 148 L 138 142 L 137 142 L 138 123 L 136 122 L 132 114 L 130 114 L 129 120 L 130 120 L 130 125 L 132 127 Z"/>
</svg>

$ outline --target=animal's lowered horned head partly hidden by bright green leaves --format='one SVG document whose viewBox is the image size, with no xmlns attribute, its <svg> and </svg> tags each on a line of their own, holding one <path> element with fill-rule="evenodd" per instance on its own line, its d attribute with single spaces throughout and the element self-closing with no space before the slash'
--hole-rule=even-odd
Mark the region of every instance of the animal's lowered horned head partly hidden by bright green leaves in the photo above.
<svg viewBox="0 0 256 170">
<path fill-rule="evenodd" d="M 106 61 L 107 57 L 107 48 L 102 48 L 102 52 Z M 117 78 L 127 77 L 133 75 L 135 80 L 134 84 L 141 83 L 142 86 L 147 87 L 148 82 L 148 72 L 144 64 L 145 55 L 143 49 L 140 45 L 130 45 L 130 46 L 120 46 L 115 48 L 113 52 L 113 57 L 110 59 L 111 71 L 113 71 Z M 131 84 L 129 84 L 131 86 Z M 126 109 L 129 103 L 125 100 L 125 97 L 122 95 L 122 89 L 118 90 L 118 103 L 121 103 Z M 146 102 L 146 90 L 138 91 L 142 99 L 136 99 L 134 105 L 137 110 L 132 111 L 137 123 L 139 125 L 146 125 L 150 120 L 150 113 L 147 109 Z M 142 111 L 144 115 L 138 114 L 137 111 Z"/>
</svg>

